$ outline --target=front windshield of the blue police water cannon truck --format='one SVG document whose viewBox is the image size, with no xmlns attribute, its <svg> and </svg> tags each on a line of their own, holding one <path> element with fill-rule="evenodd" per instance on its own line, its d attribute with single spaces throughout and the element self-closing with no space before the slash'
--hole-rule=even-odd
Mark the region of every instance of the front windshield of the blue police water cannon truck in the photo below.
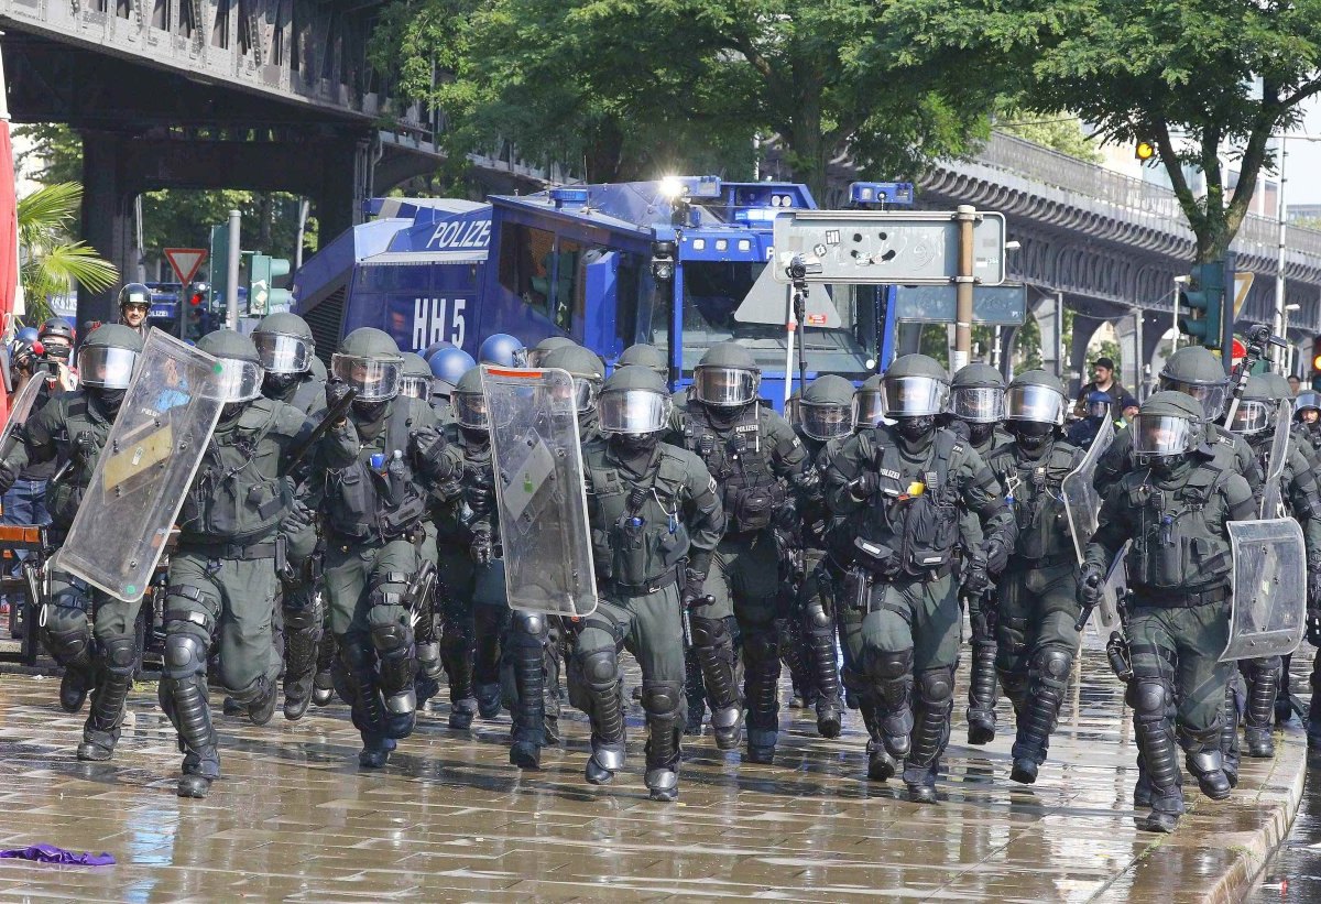
<svg viewBox="0 0 1321 904">
<path fill-rule="evenodd" d="M 789 287 L 760 279 L 765 263 L 687 260 L 683 264 L 683 370 L 690 374 L 716 342 L 737 341 L 752 350 L 762 371 L 785 370 L 785 313 Z M 753 291 L 761 297 L 750 297 Z M 659 295 L 659 293 L 658 293 Z M 832 307 L 838 325 L 806 330 L 807 370 L 865 378 L 876 357 L 878 292 L 867 285 L 812 285 L 808 313 Z M 745 301 L 748 304 L 745 304 Z M 668 348 L 671 299 L 658 297 L 650 341 Z M 834 316 L 830 321 L 836 321 Z M 795 348 L 794 366 L 798 366 Z"/>
</svg>

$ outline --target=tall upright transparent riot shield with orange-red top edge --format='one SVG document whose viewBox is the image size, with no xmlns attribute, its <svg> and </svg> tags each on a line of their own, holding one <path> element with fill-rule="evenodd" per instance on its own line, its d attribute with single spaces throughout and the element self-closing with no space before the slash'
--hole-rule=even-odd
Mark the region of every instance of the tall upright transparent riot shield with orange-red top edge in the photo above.
<svg viewBox="0 0 1321 904">
<path fill-rule="evenodd" d="M 482 367 L 509 604 L 584 616 L 596 608 L 592 534 L 573 378 Z"/>
</svg>

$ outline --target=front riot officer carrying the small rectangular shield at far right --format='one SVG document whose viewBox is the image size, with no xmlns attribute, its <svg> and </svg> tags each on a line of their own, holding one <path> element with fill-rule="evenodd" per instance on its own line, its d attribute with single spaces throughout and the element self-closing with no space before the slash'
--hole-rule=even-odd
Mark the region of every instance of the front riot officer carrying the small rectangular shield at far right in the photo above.
<svg viewBox="0 0 1321 904">
<path fill-rule="evenodd" d="M 1129 430 L 1136 471 L 1106 497 L 1087 545 L 1083 599 L 1099 600 L 1120 547 L 1125 560 L 1127 634 L 1133 677 L 1137 749 L 1152 811 L 1141 826 L 1173 831 L 1184 813 L 1176 727 L 1189 771 L 1213 800 L 1230 794 L 1219 747 L 1225 689 L 1232 663 L 1219 662 L 1229 641 L 1230 521 L 1256 517 L 1252 492 L 1232 464 L 1207 445 L 1202 404 L 1180 391 L 1148 398 Z M 1177 669 L 1176 669 L 1177 663 Z M 1169 708 L 1177 716 L 1172 724 Z"/>
</svg>

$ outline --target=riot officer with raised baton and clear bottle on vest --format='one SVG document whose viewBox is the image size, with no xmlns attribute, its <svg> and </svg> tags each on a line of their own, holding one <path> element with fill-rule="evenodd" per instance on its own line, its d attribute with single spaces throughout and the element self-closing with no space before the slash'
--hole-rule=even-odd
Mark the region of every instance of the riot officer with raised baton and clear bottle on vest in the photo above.
<svg viewBox="0 0 1321 904">
<path fill-rule="evenodd" d="M 329 621 L 339 644 L 341 695 L 351 700 L 362 735 L 358 763 L 379 768 L 416 718 L 408 597 L 425 493 L 462 461 L 431 407 L 399 395 L 403 356 L 387 333 L 353 330 L 330 370 L 330 407 L 350 389 L 357 398 L 320 444 Z"/>
</svg>

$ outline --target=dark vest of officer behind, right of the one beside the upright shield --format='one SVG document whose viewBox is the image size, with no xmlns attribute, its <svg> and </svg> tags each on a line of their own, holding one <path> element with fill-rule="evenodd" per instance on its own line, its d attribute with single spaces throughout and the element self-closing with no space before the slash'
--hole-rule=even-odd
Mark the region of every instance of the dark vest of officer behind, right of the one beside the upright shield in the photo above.
<svg viewBox="0 0 1321 904">
<path fill-rule="evenodd" d="M 700 403 L 688 404 L 683 444 L 696 453 L 720 486 L 725 530 L 741 534 L 770 527 L 787 494 L 770 469 L 771 449 L 761 430 L 761 403 L 749 404 L 738 423 L 721 433 Z"/>
</svg>

